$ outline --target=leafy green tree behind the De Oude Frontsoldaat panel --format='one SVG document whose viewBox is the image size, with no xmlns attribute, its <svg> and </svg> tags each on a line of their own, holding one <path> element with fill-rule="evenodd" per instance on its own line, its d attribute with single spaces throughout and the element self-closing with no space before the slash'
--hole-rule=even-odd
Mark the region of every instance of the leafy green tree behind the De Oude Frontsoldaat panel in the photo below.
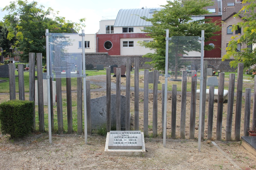
<svg viewBox="0 0 256 170">
<path fill-rule="evenodd" d="M 14 1 L 5 6 L 2 11 L 9 12 L 4 17 L 4 24 L 8 28 L 7 38 L 17 39 L 14 46 L 22 51 L 20 57 L 24 62 L 28 62 L 29 53 L 42 53 L 45 57 L 46 29 L 55 33 L 74 33 L 81 26 L 85 26 L 82 23 L 84 18 L 80 19 L 80 23 L 65 20 L 65 17 L 56 16 L 52 8 L 44 10 L 44 6 L 36 1 L 31 3 L 27 0 Z M 50 15 L 53 15 L 54 19 L 50 18 Z"/>
</svg>

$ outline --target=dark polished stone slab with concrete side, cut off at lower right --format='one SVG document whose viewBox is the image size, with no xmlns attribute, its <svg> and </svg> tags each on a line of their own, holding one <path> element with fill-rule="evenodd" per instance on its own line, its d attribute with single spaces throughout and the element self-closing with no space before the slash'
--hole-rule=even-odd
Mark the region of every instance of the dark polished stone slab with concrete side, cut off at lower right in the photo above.
<svg viewBox="0 0 256 170">
<path fill-rule="evenodd" d="M 242 136 L 242 146 L 256 156 L 256 136 Z"/>
</svg>

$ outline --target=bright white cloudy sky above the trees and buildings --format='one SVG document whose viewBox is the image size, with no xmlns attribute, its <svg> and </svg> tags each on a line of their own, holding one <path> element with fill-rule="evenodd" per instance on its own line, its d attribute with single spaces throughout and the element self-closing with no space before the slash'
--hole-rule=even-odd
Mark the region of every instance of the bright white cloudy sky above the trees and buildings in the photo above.
<svg viewBox="0 0 256 170">
<path fill-rule="evenodd" d="M 28 0 L 29 2 L 32 2 Z M 86 27 L 82 28 L 85 34 L 94 34 L 99 30 L 99 21 L 103 16 L 117 16 L 120 9 L 131 8 L 154 8 L 160 5 L 166 5 L 166 0 L 90 0 L 90 1 L 76 1 L 72 3 L 70 0 L 37 0 L 40 5 L 53 8 L 55 11 L 59 11 L 58 16 L 65 17 L 66 20 L 73 22 L 79 22 L 80 18 L 86 18 L 84 22 Z M 0 9 L 2 10 L 6 5 L 9 5 L 9 1 L 1 1 Z M 8 14 L 8 12 L 0 11 L 0 20 Z M 81 31 L 79 31 L 81 33 Z"/>
</svg>

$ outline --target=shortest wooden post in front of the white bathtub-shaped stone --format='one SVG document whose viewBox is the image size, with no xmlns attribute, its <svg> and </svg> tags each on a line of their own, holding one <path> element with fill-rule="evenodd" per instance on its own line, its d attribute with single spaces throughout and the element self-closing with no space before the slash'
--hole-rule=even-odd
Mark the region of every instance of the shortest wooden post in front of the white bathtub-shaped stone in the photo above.
<svg viewBox="0 0 256 170">
<path fill-rule="evenodd" d="M 212 140 L 213 108 L 214 108 L 214 86 L 210 86 L 209 103 L 208 103 L 208 129 L 207 129 L 208 140 Z"/>
</svg>

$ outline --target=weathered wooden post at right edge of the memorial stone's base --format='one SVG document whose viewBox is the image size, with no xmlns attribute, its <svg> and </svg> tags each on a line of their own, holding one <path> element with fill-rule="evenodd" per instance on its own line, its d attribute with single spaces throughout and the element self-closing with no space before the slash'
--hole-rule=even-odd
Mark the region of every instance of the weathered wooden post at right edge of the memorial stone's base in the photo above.
<svg viewBox="0 0 256 170">
<path fill-rule="evenodd" d="M 148 70 L 144 70 L 143 132 L 148 136 Z"/>
</svg>

